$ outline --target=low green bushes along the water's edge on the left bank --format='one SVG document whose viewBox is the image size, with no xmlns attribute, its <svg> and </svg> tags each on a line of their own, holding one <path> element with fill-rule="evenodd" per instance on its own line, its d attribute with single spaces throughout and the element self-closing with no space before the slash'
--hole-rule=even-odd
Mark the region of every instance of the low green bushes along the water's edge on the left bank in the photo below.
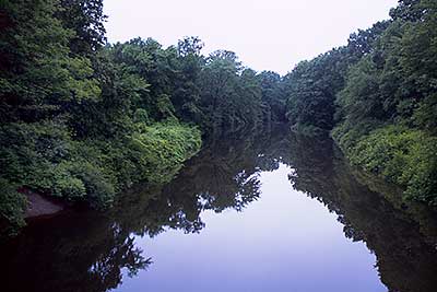
<svg viewBox="0 0 437 292">
<path fill-rule="evenodd" d="M 0 214 L 24 224 L 26 187 L 102 209 L 135 183 L 166 183 L 201 145 L 200 131 L 173 124 L 138 125 L 111 140 L 73 141 L 62 122 L 10 124 L 0 128 Z"/>
</svg>

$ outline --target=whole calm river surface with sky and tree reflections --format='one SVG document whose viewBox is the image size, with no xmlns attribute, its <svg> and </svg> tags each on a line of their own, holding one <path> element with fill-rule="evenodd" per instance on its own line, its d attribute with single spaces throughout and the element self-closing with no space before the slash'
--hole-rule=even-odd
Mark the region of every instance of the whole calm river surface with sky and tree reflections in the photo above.
<svg viewBox="0 0 437 292">
<path fill-rule="evenodd" d="M 282 130 L 208 143 L 106 213 L 32 222 L 0 246 L 0 291 L 437 291 L 437 221 Z"/>
</svg>

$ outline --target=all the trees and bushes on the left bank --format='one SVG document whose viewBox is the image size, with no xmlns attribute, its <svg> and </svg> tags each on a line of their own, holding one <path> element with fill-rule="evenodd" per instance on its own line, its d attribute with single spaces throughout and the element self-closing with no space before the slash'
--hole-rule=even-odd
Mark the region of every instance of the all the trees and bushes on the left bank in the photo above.
<svg viewBox="0 0 437 292">
<path fill-rule="evenodd" d="M 285 119 L 281 77 L 186 37 L 108 44 L 103 0 L 1 1 L 0 214 L 26 194 L 93 208 L 170 180 L 201 136 Z"/>
</svg>

